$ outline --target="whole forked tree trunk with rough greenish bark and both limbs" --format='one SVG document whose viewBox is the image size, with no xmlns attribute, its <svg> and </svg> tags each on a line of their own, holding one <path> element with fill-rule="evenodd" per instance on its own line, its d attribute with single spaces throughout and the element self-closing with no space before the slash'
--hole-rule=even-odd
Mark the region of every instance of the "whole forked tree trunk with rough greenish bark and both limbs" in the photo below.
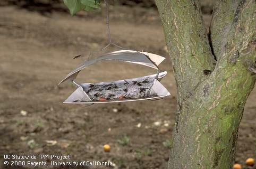
<svg viewBox="0 0 256 169">
<path fill-rule="evenodd" d="M 197 0 L 155 0 L 177 84 L 168 168 L 232 168 L 256 79 L 255 0 L 220 0 L 210 34 Z"/>
</svg>

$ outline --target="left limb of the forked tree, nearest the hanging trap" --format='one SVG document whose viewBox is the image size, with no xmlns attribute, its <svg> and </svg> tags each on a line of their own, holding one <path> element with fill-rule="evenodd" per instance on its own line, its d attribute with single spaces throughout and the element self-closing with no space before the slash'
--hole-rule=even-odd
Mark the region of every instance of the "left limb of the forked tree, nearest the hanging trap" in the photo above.
<svg viewBox="0 0 256 169">
<path fill-rule="evenodd" d="M 215 67 L 199 1 L 155 0 L 173 63 L 178 101 L 191 96 Z"/>
</svg>

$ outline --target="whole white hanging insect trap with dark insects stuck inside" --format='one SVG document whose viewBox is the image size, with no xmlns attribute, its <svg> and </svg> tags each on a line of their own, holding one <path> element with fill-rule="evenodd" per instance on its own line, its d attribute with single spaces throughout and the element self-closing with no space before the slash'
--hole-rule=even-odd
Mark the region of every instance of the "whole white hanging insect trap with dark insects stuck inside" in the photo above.
<svg viewBox="0 0 256 169">
<path fill-rule="evenodd" d="M 77 83 L 78 73 L 89 65 L 104 60 L 119 60 L 145 65 L 157 69 L 149 76 L 99 83 Z M 132 50 L 118 50 L 101 55 L 96 59 L 84 61 L 60 83 L 72 81 L 78 88 L 64 101 L 65 104 L 97 104 L 137 100 L 155 100 L 170 96 L 167 89 L 159 82 L 167 72 L 159 72 L 158 65 L 165 60 L 159 55 Z"/>
</svg>

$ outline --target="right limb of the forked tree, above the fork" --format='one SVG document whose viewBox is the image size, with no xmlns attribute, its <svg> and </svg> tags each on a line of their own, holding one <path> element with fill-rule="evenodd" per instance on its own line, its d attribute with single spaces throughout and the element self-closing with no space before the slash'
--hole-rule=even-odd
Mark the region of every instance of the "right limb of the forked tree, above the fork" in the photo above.
<svg viewBox="0 0 256 169">
<path fill-rule="evenodd" d="M 218 60 L 216 69 L 231 67 L 237 62 L 248 69 L 249 62 L 254 63 L 255 57 L 248 54 L 255 52 L 255 10 L 254 0 L 216 2 L 210 28 Z"/>
</svg>

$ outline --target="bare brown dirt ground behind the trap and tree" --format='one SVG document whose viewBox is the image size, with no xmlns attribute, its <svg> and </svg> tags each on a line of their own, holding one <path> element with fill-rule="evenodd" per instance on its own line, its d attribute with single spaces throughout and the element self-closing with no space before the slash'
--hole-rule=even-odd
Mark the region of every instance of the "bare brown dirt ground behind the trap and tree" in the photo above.
<svg viewBox="0 0 256 169">
<path fill-rule="evenodd" d="M 126 48 L 166 57 L 160 69 L 168 74 L 161 82 L 172 96 L 89 107 L 62 103 L 75 86 L 57 83 L 86 59 L 73 57 L 88 55 L 107 44 L 104 12 L 71 17 L 63 12 L 41 14 L 0 6 L 0 168 L 12 168 L 4 166 L 4 154 L 70 154 L 72 161 L 115 164 L 107 168 L 166 168 L 175 123 L 176 86 L 155 9 L 111 6 L 112 38 Z M 210 15 L 204 18 L 209 25 Z M 100 82 L 150 73 L 155 72 L 138 65 L 101 62 L 82 71 L 77 81 Z M 235 161 L 244 168 L 246 158 L 255 158 L 255 102 L 254 89 L 245 106 L 236 148 Z M 104 152 L 104 144 L 110 145 L 110 152 Z"/>
</svg>

